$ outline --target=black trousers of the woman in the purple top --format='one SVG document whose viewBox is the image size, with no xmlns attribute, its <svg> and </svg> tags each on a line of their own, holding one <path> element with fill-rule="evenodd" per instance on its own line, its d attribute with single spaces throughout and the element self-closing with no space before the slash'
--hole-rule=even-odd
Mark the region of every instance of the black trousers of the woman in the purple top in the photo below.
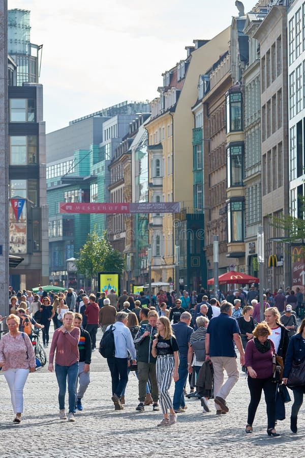
<svg viewBox="0 0 305 458">
<path fill-rule="evenodd" d="M 248 407 L 248 424 L 252 425 L 254 417 L 264 391 L 267 405 L 268 429 L 275 427 L 276 422 L 276 388 L 277 384 L 268 379 L 252 379 L 248 376 L 248 387 L 250 390 L 250 404 Z"/>
</svg>

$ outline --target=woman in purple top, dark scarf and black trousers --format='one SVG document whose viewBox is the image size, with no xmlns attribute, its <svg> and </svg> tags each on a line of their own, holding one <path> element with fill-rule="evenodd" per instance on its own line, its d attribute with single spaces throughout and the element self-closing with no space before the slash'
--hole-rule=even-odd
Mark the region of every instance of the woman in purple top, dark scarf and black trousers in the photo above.
<svg viewBox="0 0 305 458">
<path fill-rule="evenodd" d="M 275 430 L 276 422 L 276 387 L 272 381 L 272 356 L 275 346 L 268 339 L 271 330 L 266 322 L 259 323 L 253 331 L 254 338 L 249 340 L 245 352 L 245 364 L 248 369 L 248 387 L 250 404 L 246 433 L 252 433 L 252 424 L 264 390 L 267 405 L 268 436 L 280 436 Z"/>
</svg>

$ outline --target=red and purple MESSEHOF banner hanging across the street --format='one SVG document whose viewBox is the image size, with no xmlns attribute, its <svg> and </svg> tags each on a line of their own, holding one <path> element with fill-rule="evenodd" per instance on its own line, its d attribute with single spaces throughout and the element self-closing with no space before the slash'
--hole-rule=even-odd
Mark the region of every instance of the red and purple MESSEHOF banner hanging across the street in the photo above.
<svg viewBox="0 0 305 458">
<path fill-rule="evenodd" d="M 59 203 L 59 213 L 178 213 L 179 211 L 179 202 L 142 202 L 140 204 Z"/>
</svg>

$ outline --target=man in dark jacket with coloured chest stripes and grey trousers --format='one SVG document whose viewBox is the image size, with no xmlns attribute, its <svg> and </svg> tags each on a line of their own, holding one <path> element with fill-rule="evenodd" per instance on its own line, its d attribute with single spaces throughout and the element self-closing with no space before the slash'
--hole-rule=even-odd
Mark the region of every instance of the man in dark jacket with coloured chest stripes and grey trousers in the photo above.
<svg viewBox="0 0 305 458">
<path fill-rule="evenodd" d="M 91 362 L 91 337 L 87 331 L 81 327 L 82 316 L 80 313 L 75 313 L 73 326 L 80 328 L 80 337 L 78 342 L 79 351 L 79 365 L 78 365 L 78 376 L 75 384 L 76 391 L 76 404 L 75 412 L 77 410 L 83 410 L 81 400 L 85 394 L 86 389 L 90 383 L 90 362 Z M 78 390 L 77 390 L 77 383 Z"/>
</svg>

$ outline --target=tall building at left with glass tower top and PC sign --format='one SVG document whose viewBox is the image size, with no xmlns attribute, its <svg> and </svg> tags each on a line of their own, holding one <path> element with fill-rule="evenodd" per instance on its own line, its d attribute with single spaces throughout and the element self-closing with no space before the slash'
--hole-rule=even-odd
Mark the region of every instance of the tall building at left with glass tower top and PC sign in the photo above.
<svg viewBox="0 0 305 458">
<path fill-rule="evenodd" d="M 24 258 L 10 270 L 14 290 L 48 283 L 43 88 L 38 82 L 40 47 L 31 43 L 27 10 L 8 13 L 10 253 Z"/>
</svg>

